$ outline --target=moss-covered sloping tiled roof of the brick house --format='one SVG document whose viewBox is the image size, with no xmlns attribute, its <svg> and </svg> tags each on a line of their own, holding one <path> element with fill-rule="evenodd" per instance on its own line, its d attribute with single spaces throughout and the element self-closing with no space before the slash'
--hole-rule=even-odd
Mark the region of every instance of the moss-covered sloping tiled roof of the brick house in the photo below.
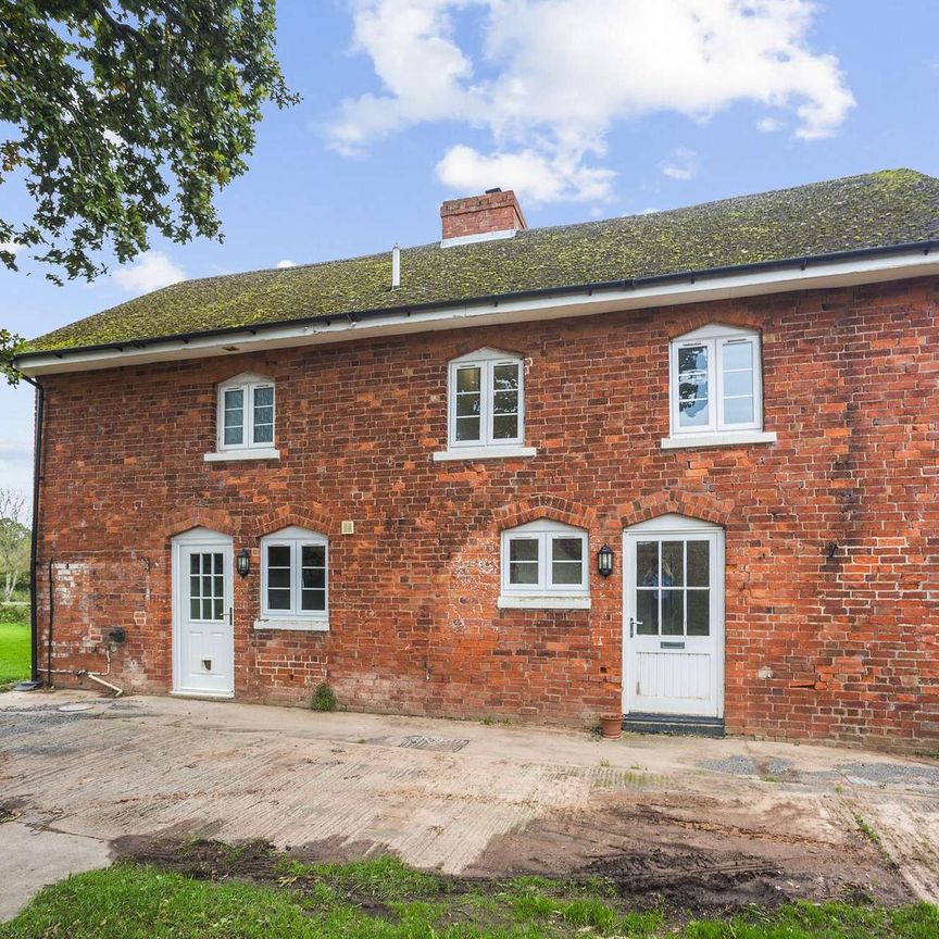
<svg viewBox="0 0 939 939">
<path fill-rule="evenodd" d="M 33 340 L 29 352 L 132 342 L 316 315 L 704 271 L 939 238 L 939 179 L 851 176 L 689 209 L 533 228 L 512 239 L 390 251 L 174 284 Z"/>
</svg>

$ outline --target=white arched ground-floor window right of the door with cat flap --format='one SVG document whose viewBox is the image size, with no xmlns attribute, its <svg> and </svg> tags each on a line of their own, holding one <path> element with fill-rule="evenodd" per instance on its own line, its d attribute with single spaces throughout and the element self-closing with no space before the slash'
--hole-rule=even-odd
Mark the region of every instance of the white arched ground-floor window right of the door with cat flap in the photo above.
<svg viewBox="0 0 939 939">
<path fill-rule="evenodd" d="M 261 539 L 259 628 L 327 629 L 329 542 L 292 526 Z"/>
</svg>

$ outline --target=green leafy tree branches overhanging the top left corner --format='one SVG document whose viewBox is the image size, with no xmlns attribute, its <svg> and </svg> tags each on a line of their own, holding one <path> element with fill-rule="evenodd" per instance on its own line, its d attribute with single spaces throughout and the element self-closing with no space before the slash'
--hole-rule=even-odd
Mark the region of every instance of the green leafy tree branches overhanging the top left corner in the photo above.
<svg viewBox="0 0 939 939">
<path fill-rule="evenodd" d="M 92 279 L 148 233 L 220 238 L 218 189 L 246 168 L 266 102 L 298 99 L 274 54 L 275 0 L 0 0 L 0 261 Z M 9 198 L 0 205 L 9 205 Z M 28 213 L 27 213 L 28 214 Z"/>
</svg>

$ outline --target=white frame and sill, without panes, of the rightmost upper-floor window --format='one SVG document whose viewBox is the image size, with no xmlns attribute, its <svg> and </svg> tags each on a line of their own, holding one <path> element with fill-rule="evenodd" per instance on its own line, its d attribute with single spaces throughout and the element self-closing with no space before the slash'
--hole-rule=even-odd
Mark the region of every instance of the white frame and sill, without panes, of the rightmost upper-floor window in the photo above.
<svg viewBox="0 0 939 939">
<path fill-rule="evenodd" d="M 753 363 L 753 420 L 728 424 L 724 418 L 724 350 L 729 345 L 747 343 Z M 678 409 L 678 358 L 681 349 L 703 346 L 708 350 L 708 424 L 683 427 Z M 668 410 L 671 436 L 664 449 L 708 447 L 730 443 L 771 443 L 776 435 L 763 429 L 763 362 L 760 334 L 754 329 L 714 324 L 678 336 L 668 350 Z"/>
</svg>

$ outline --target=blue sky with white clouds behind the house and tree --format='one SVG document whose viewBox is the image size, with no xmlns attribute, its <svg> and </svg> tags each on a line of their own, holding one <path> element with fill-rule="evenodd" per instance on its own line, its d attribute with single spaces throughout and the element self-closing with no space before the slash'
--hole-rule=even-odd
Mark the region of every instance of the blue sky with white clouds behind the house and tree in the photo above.
<svg viewBox="0 0 939 939">
<path fill-rule="evenodd" d="M 218 198 L 224 243 L 55 287 L 21 253 L 0 325 L 35 336 L 181 277 L 439 237 L 439 203 L 518 191 L 528 224 L 910 166 L 939 175 L 934 0 L 280 0 L 300 105 Z M 4 213 L 26 203 L 0 189 Z M 33 392 L 0 388 L 0 486 Z"/>
</svg>

